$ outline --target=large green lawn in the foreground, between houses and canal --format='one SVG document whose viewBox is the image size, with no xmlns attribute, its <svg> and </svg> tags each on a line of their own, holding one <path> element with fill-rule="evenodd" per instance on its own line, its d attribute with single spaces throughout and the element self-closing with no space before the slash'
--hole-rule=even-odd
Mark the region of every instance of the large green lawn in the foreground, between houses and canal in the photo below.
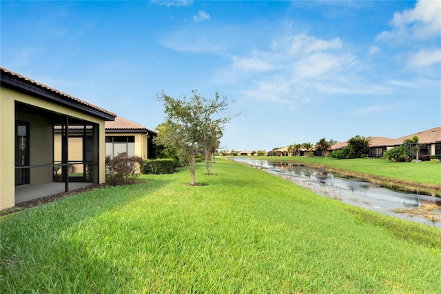
<svg viewBox="0 0 441 294">
<path fill-rule="evenodd" d="M 218 159 L 0 218 L 0 293 L 441 293 L 441 230 Z"/>
</svg>

